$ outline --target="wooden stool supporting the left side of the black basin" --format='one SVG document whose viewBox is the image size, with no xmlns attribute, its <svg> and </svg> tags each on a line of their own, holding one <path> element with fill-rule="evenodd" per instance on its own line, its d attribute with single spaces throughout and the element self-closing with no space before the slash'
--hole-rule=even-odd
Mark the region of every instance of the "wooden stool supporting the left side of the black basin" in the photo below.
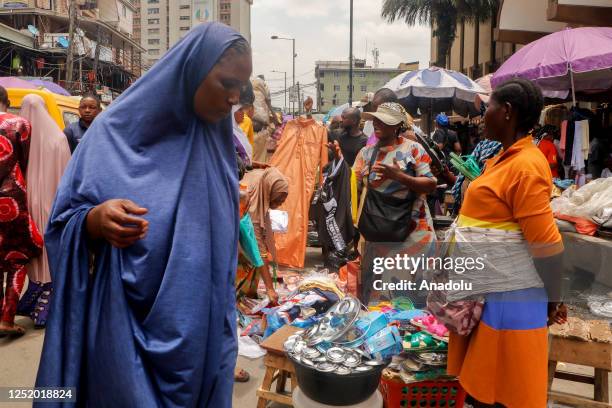
<svg viewBox="0 0 612 408">
<path fill-rule="evenodd" d="M 297 378 L 295 376 L 295 368 L 293 363 L 289 361 L 283 349 L 285 340 L 295 332 L 299 331 L 297 327 L 283 326 L 272 336 L 268 337 L 261 347 L 268 354 L 264 358 L 266 366 L 266 374 L 263 382 L 257 390 L 257 408 L 265 408 L 269 401 L 279 402 L 281 404 L 293 406 L 292 392 L 297 387 Z M 285 392 L 287 379 L 291 380 L 291 393 Z M 276 391 L 272 391 L 272 384 L 276 381 Z"/>
</svg>

